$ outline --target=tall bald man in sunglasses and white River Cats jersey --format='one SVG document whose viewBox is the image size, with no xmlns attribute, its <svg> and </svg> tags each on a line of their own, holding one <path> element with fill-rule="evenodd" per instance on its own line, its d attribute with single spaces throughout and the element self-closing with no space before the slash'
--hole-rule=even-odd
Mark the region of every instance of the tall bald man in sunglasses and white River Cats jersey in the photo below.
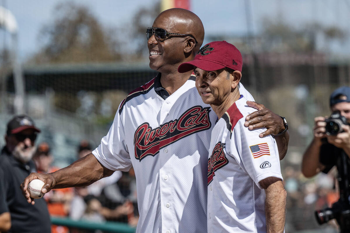
<svg viewBox="0 0 350 233">
<path fill-rule="evenodd" d="M 191 72 L 177 72 L 200 50 L 203 24 L 194 13 L 173 8 L 160 13 L 146 35 L 149 67 L 159 74 L 121 102 L 109 132 L 91 154 L 57 172 L 29 175 L 22 183 L 23 194 L 34 203 L 27 191 L 33 179 L 45 182 L 45 193 L 88 185 L 133 167 L 140 213 L 137 232 L 207 232 L 208 149 L 217 117 L 198 95 Z M 253 100 L 243 86 L 239 91 Z M 248 116 L 247 126 L 265 124 L 262 137 L 283 131 L 281 117 L 250 104 L 260 110 Z M 288 141 L 284 135 L 282 151 Z"/>
</svg>

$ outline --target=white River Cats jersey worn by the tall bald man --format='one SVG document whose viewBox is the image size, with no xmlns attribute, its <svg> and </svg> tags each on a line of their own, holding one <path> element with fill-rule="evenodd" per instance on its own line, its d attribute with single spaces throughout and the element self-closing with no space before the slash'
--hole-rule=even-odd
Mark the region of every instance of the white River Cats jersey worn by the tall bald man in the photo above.
<svg viewBox="0 0 350 233">
<path fill-rule="evenodd" d="M 251 96 L 242 85 L 239 90 Z M 111 170 L 133 166 L 137 232 L 207 232 L 208 150 L 217 116 L 203 103 L 194 75 L 162 98 L 165 92 L 160 74 L 131 92 L 92 153 Z"/>
</svg>

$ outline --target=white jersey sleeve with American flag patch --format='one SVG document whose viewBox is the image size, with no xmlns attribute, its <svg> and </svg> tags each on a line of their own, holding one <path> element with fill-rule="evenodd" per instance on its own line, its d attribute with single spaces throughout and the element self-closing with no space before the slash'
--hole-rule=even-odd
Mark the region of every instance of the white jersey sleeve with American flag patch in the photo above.
<svg viewBox="0 0 350 233">
<path fill-rule="evenodd" d="M 230 140 L 231 150 L 237 150 L 236 158 L 240 166 L 261 189 L 259 182 L 267 177 L 281 175 L 280 160 L 276 141 L 272 136 L 260 138 L 259 134 L 265 129 L 248 130 L 244 127 L 244 119 L 238 122 Z M 234 149 L 236 148 L 236 149 Z"/>
</svg>

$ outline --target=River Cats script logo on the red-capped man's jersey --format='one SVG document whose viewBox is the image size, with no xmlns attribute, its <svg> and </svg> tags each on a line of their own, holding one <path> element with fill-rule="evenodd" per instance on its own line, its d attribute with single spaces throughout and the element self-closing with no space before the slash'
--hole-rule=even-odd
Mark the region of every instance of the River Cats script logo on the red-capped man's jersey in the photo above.
<svg viewBox="0 0 350 233">
<path fill-rule="evenodd" d="M 225 143 L 219 141 L 208 160 L 208 184 L 213 180 L 215 171 L 229 163 L 224 153 Z"/>
</svg>

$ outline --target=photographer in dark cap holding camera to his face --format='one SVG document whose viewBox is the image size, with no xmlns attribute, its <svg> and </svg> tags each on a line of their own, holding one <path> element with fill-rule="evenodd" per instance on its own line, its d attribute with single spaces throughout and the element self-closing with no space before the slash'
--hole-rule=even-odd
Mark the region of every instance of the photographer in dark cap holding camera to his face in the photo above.
<svg viewBox="0 0 350 233">
<path fill-rule="evenodd" d="M 338 170 L 340 198 L 332 207 L 316 210 L 319 224 L 336 219 L 341 233 L 350 232 L 350 87 L 340 87 L 330 95 L 332 114 L 316 117 L 314 139 L 303 154 L 301 171 L 306 177 Z"/>
</svg>

